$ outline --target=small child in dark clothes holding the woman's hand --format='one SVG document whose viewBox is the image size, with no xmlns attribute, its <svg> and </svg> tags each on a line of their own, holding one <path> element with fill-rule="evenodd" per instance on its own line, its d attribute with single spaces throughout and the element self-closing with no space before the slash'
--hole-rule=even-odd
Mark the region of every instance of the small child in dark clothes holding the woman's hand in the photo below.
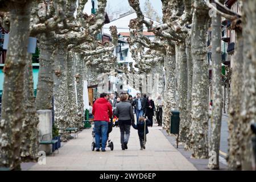
<svg viewBox="0 0 256 182">
<path fill-rule="evenodd" d="M 138 130 L 139 142 L 141 143 L 141 150 L 143 150 L 143 148 L 146 148 L 146 134 L 148 134 L 147 126 L 150 126 L 150 120 L 144 117 L 139 117 L 139 122 L 137 122 L 137 125 L 133 123 L 133 128 Z"/>
</svg>

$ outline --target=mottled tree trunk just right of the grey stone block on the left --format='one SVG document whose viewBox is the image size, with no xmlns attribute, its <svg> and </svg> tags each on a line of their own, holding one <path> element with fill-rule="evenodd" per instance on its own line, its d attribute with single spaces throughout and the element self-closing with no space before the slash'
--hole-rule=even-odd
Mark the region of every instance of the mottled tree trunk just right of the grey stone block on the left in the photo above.
<svg viewBox="0 0 256 182">
<path fill-rule="evenodd" d="M 65 129 L 69 126 L 68 113 L 68 92 L 67 92 L 67 50 L 59 46 L 55 53 L 55 74 L 53 75 L 53 98 L 55 123 L 60 129 L 61 140 L 67 141 Z"/>
</svg>

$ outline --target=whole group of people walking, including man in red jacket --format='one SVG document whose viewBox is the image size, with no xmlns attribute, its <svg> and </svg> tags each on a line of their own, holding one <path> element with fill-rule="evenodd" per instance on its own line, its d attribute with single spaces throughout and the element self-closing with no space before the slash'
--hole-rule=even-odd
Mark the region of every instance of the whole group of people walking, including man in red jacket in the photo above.
<svg viewBox="0 0 256 182">
<path fill-rule="evenodd" d="M 160 96 L 156 101 L 156 105 L 151 96 L 147 98 L 144 94 L 137 93 L 137 98 L 127 93 L 122 93 L 121 97 L 114 98 L 114 94 L 109 95 L 102 93 L 100 98 L 93 104 L 92 114 L 94 115 L 94 128 L 96 137 L 96 151 L 100 151 L 100 137 L 102 137 L 101 150 L 105 151 L 106 141 L 108 139 L 108 128 L 112 126 L 113 114 L 118 118 L 118 125 L 121 133 L 121 148 L 126 150 L 130 137 L 130 128 L 138 130 L 141 150 L 146 147 L 147 127 L 152 127 L 154 111 L 156 111 L 156 119 L 158 126 L 162 126 L 162 100 Z M 135 125 L 134 112 L 137 117 Z"/>
</svg>

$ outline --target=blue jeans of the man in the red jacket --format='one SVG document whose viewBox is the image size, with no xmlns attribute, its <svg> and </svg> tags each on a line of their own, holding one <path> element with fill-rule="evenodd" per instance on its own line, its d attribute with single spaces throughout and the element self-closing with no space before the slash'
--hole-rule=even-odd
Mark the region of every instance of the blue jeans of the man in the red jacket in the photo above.
<svg viewBox="0 0 256 182">
<path fill-rule="evenodd" d="M 108 139 L 108 126 L 108 122 L 106 121 L 94 121 L 96 149 L 100 148 L 100 141 L 101 149 L 106 148 L 106 140 Z"/>
</svg>

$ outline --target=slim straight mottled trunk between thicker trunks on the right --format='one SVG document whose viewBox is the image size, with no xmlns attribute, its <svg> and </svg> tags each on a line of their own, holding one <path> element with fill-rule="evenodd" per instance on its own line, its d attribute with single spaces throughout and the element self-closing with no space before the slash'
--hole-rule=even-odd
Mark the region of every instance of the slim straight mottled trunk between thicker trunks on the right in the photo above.
<svg viewBox="0 0 256 182">
<path fill-rule="evenodd" d="M 216 163 L 209 160 L 210 169 L 219 168 L 219 151 L 222 117 L 222 94 L 221 94 L 221 16 L 212 16 L 212 116 L 210 118 L 209 151 L 216 152 Z"/>
</svg>

